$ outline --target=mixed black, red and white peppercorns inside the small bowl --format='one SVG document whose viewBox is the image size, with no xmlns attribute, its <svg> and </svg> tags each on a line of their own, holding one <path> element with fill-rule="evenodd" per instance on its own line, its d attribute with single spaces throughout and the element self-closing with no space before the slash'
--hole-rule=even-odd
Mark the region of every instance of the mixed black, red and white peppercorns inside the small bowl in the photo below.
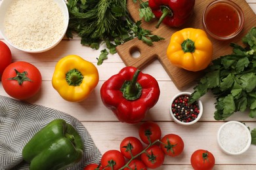
<svg viewBox="0 0 256 170">
<path fill-rule="evenodd" d="M 171 105 L 173 115 L 181 122 L 192 122 L 198 117 L 200 112 L 198 102 L 195 101 L 194 103 L 189 104 L 188 98 L 188 95 L 180 95 Z"/>
</svg>

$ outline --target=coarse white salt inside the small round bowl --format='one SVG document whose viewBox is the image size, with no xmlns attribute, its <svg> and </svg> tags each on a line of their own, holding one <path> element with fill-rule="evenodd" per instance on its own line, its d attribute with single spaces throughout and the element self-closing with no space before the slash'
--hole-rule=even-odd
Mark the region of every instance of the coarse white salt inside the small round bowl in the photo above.
<svg viewBox="0 0 256 170">
<path fill-rule="evenodd" d="M 230 122 L 224 124 L 219 132 L 219 143 L 231 153 L 241 152 L 249 141 L 248 129 L 243 124 Z"/>
</svg>

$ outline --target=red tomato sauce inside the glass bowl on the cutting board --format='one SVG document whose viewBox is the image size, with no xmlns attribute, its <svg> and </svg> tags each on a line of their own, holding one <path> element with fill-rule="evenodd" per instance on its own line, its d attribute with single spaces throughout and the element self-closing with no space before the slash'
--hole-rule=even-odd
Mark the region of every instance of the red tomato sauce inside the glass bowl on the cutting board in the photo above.
<svg viewBox="0 0 256 170">
<path fill-rule="evenodd" d="M 211 33 L 227 37 L 236 32 L 240 24 L 238 11 L 231 5 L 220 3 L 214 5 L 205 16 L 205 24 Z"/>
</svg>

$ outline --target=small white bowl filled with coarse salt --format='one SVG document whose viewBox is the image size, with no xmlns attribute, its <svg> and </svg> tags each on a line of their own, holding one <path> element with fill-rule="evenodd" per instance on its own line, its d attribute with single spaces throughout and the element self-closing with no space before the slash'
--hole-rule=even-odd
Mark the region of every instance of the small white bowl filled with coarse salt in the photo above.
<svg viewBox="0 0 256 170">
<path fill-rule="evenodd" d="M 251 145 L 251 133 L 241 122 L 229 121 L 219 128 L 217 141 L 224 153 L 240 155 Z"/>
</svg>

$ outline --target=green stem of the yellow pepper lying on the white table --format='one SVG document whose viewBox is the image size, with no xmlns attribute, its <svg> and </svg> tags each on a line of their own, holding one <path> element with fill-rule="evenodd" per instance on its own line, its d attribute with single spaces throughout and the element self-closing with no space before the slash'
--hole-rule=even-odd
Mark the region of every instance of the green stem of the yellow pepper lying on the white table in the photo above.
<svg viewBox="0 0 256 170">
<path fill-rule="evenodd" d="M 66 81 L 70 86 L 79 86 L 83 82 L 83 75 L 77 69 L 71 69 L 66 73 Z"/>
</svg>

